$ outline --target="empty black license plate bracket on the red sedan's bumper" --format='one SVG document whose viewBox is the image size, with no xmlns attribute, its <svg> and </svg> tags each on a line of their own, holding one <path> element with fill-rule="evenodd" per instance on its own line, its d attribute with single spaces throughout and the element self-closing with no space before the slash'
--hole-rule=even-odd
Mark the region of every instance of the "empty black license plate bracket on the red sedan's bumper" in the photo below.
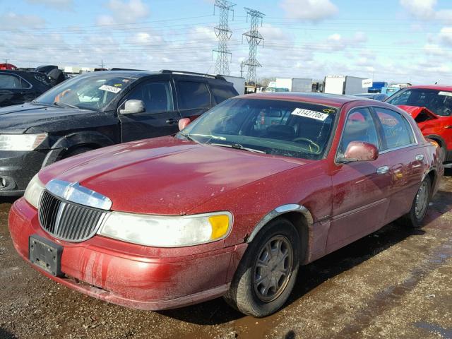
<svg viewBox="0 0 452 339">
<path fill-rule="evenodd" d="M 56 277 L 61 272 L 61 254 L 63 246 L 51 242 L 49 239 L 32 234 L 28 238 L 28 258 L 31 263 Z"/>
</svg>

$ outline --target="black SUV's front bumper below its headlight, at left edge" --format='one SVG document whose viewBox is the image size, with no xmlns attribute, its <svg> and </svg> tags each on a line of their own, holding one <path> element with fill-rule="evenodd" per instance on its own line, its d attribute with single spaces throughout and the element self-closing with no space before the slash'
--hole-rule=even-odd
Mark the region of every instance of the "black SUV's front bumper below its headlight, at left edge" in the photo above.
<svg viewBox="0 0 452 339">
<path fill-rule="evenodd" d="M 0 151 L 0 196 L 21 196 L 39 172 L 48 150 Z"/>
</svg>

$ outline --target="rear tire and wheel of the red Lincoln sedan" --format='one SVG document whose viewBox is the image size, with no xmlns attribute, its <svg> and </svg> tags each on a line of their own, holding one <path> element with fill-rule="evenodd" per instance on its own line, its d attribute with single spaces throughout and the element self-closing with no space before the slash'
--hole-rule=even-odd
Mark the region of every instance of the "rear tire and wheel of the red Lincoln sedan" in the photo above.
<svg viewBox="0 0 452 339">
<path fill-rule="evenodd" d="M 423 226 L 422 221 L 427 214 L 430 198 L 432 198 L 432 179 L 427 176 L 417 190 L 410 212 L 403 216 L 405 225 L 412 228 L 420 228 Z"/>
</svg>

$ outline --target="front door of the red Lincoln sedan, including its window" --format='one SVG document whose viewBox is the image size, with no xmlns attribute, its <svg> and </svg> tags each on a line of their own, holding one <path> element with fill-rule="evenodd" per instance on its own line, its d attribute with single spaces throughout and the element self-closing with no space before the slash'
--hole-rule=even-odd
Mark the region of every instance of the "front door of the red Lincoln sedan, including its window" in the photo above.
<svg viewBox="0 0 452 339">
<path fill-rule="evenodd" d="M 351 141 L 372 143 L 381 149 L 381 136 L 368 108 L 347 115 L 338 157 Z M 350 244 L 383 225 L 391 186 L 391 164 L 385 157 L 374 161 L 337 164 L 333 171 L 333 218 L 328 232 L 329 253 Z"/>
</svg>

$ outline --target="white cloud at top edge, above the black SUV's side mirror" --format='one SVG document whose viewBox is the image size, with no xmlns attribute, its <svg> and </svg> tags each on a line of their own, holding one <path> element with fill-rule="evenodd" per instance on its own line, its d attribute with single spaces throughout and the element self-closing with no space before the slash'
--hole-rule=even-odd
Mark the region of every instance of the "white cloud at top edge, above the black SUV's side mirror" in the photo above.
<svg viewBox="0 0 452 339">
<path fill-rule="evenodd" d="M 102 14 L 97 18 L 98 25 L 112 25 L 114 23 L 136 23 L 147 18 L 150 14 L 149 6 L 142 0 L 109 0 L 107 4 L 111 15 Z"/>
</svg>

